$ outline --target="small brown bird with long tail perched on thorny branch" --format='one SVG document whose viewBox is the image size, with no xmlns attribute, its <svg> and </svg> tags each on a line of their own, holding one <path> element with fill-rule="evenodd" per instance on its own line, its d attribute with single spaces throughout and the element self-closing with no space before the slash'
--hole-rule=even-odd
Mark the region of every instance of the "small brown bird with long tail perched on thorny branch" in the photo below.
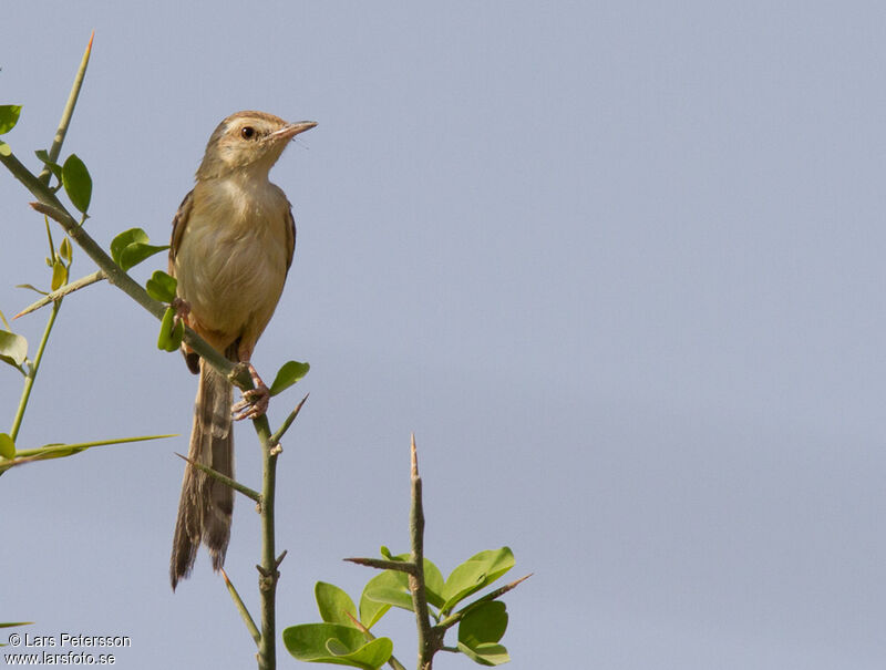
<svg viewBox="0 0 886 670">
<path fill-rule="evenodd" d="M 233 388 L 194 351 L 199 373 L 188 457 L 234 476 L 234 419 L 254 419 L 268 406 L 268 389 L 253 368 L 256 341 L 270 321 L 292 262 L 296 226 L 286 194 L 268 172 L 289 141 L 312 121 L 287 123 L 264 112 L 238 112 L 209 137 L 196 185 L 173 220 L 169 274 L 178 280 L 185 322 L 229 360 L 249 365 L 255 391 L 231 408 Z M 194 567 L 204 542 L 213 568 L 225 563 L 234 491 L 185 465 L 169 577 L 173 590 Z"/>
</svg>

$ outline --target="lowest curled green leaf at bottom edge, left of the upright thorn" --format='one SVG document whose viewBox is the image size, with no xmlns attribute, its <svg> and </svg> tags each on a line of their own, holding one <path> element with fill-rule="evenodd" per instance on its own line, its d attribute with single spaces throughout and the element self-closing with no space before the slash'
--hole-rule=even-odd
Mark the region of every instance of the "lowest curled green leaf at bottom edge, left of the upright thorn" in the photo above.
<svg viewBox="0 0 886 670">
<path fill-rule="evenodd" d="M 295 658 L 311 663 L 377 670 L 393 652 L 389 638 L 367 642 L 356 628 L 338 623 L 303 623 L 284 630 L 284 645 Z"/>
</svg>

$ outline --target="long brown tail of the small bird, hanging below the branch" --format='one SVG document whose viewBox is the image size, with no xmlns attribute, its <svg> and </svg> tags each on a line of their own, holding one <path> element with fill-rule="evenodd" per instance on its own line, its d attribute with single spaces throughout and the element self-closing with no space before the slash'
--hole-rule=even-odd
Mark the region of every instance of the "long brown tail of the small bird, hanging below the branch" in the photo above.
<svg viewBox="0 0 886 670">
<path fill-rule="evenodd" d="M 200 361 L 188 457 L 233 478 L 231 395 L 230 382 L 212 365 Z M 200 542 L 209 550 L 213 568 L 222 568 L 230 538 L 233 512 L 234 491 L 229 486 L 213 480 L 190 464 L 185 465 L 169 561 L 173 590 L 179 579 L 190 574 Z"/>
</svg>

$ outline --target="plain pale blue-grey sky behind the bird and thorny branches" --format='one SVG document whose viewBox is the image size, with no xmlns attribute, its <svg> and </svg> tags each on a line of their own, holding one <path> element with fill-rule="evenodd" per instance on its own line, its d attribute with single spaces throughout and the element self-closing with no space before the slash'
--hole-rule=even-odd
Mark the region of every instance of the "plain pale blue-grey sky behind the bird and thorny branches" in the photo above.
<svg viewBox="0 0 886 670">
<path fill-rule="evenodd" d="M 678 6 L 679 4 L 679 6 Z M 408 543 L 513 547 L 512 668 L 882 668 L 886 11 L 875 2 L 166 2 L 4 8 L 4 137 L 33 169 L 90 31 L 64 154 L 104 246 L 165 243 L 206 140 L 316 120 L 271 173 L 296 261 L 255 362 L 311 373 L 279 464 L 278 621 Z M 48 284 L 0 175 L 0 309 Z M 154 259 L 144 280 L 165 265 Z M 78 254 L 74 276 L 92 271 Z M 35 346 L 45 315 L 16 328 Z M 65 300 L 20 435 L 179 433 L 0 478 L 0 620 L 128 635 L 123 668 L 251 667 L 200 553 L 167 566 L 196 380 L 109 286 Z M 20 378 L 0 370 L 0 409 Z M 239 477 L 258 482 L 251 427 Z M 255 607 L 258 527 L 227 568 Z M 412 620 L 380 633 L 412 664 Z M 295 666 L 282 653 L 280 667 Z M 436 667 L 464 668 L 437 657 Z"/>
</svg>

